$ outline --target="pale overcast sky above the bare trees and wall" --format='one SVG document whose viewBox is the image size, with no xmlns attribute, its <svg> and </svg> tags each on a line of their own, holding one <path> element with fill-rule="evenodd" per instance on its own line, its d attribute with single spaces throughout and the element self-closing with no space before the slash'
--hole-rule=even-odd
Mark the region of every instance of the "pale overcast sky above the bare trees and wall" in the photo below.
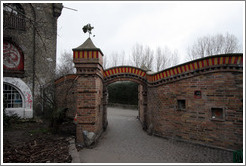
<svg viewBox="0 0 246 166">
<path fill-rule="evenodd" d="M 177 49 L 185 61 L 187 47 L 198 38 L 218 33 L 234 34 L 244 41 L 245 2 L 67 2 L 58 19 L 58 56 L 87 38 L 82 27 L 94 26 L 91 37 L 104 55 L 125 51 L 136 44 Z"/>
</svg>

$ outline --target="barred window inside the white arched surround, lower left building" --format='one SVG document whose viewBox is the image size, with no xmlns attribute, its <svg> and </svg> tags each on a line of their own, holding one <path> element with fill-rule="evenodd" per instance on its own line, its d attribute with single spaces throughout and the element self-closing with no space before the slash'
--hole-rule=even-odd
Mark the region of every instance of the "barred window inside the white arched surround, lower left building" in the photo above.
<svg viewBox="0 0 246 166">
<path fill-rule="evenodd" d="M 3 97 L 5 108 L 21 108 L 21 94 L 11 85 L 3 84 Z"/>
</svg>

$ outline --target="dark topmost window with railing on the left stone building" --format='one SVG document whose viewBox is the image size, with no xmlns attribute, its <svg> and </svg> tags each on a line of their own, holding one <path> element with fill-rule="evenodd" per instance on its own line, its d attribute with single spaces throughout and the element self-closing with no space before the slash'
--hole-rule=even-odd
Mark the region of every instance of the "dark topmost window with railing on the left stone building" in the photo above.
<svg viewBox="0 0 246 166">
<path fill-rule="evenodd" d="M 3 11 L 4 29 L 26 29 L 25 11 L 19 3 L 4 3 Z"/>
</svg>

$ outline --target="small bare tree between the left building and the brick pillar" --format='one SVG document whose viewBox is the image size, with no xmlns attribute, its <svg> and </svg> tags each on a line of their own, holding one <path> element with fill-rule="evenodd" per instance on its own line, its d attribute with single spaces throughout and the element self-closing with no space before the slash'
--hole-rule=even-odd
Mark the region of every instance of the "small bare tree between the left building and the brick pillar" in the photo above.
<svg viewBox="0 0 246 166">
<path fill-rule="evenodd" d="M 63 52 L 59 57 L 59 63 L 57 65 L 56 75 L 61 77 L 67 74 L 74 74 L 76 72 L 73 55 L 70 52 Z"/>
</svg>

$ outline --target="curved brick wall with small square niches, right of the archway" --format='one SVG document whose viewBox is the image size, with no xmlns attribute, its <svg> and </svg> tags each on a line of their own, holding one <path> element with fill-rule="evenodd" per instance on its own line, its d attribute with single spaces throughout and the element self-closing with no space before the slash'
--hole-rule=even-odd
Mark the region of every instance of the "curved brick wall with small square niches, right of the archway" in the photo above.
<svg viewBox="0 0 246 166">
<path fill-rule="evenodd" d="M 189 71 L 183 70 L 189 66 Z M 164 73 L 175 74 L 158 79 Z M 243 148 L 242 54 L 207 57 L 149 78 L 147 110 L 155 135 L 224 149 Z M 216 111 L 221 113 L 219 118 L 213 117 Z"/>
</svg>

